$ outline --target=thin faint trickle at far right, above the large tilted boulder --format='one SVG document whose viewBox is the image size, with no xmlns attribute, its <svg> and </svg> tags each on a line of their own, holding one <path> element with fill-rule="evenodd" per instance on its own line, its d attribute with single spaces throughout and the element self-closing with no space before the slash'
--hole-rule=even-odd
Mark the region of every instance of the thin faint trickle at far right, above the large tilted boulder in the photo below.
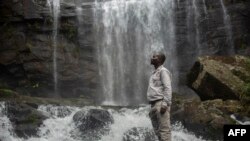
<svg viewBox="0 0 250 141">
<path fill-rule="evenodd" d="M 235 53 L 234 51 L 234 42 L 233 42 L 233 33 L 232 33 L 232 26 L 231 26 L 231 19 L 227 12 L 227 9 L 224 5 L 223 0 L 220 0 L 220 4 L 223 10 L 223 19 L 224 25 L 226 26 L 226 34 L 227 34 L 227 42 L 228 42 L 228 49 L 226 49 L 228 55 L 232 55 Z"/>
</svg>

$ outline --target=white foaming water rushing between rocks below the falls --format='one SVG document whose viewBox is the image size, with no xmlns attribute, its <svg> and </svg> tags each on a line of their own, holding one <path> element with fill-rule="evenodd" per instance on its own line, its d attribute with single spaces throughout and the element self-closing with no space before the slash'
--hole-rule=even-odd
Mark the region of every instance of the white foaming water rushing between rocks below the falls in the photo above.
<svg viewBox="0 0 250 141">
<path fill-rule="evenodd" d="M 73 122 L 73 116 L 80 110 L 88 111 L 90 109 L 103 109 L 101 107 L 69 107 L 69 106 L 52 106 L 42 105 L 38 110 L 42 111 L 49 118 L 43 122 L 39 128 L 37 137 L 29 137 L 28 139 L 18 138 L 12 132 L 11 123 L 5 111 L 5 103 L 0 102 L 0 140 L 2 141 L 82 141 L 81 135 L 84 134 L 78 130 Z M 123 141 L 125 133 L 132 128 L 146 128 L 152 130 L 150 120 L 148 118 L 149 107 L 141 107 L 137 109 L 122 108 L 120 110 L 108 109 L 108 112 L 114 118 L 114 123 L 110 126 L 110 132 L 106 135 L 100 135 L 99 141 Z M 179 123 L 172 125 L 173 141 L 202 141 L 189 133 Z M 141 138 L 138 138 L 141 137 Z M 143 134 L 138 136 L 130 136 L 127 141 L 141 141 Z M 126 138 L 125 138 L 126 139 Z M 89 141 L 89 140 L 88 140 Z M 93 140 L 92 140 L 93 141 Z"/>
</svg>

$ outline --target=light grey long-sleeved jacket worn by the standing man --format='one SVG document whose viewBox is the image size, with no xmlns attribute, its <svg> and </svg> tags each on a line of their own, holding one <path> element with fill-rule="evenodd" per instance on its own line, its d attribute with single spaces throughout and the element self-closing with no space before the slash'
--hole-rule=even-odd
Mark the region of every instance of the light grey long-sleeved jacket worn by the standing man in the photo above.
<svg viewBox="0 0 250 141">
<path fill-rule="evenodd" d="M 171 73 L 163 66 L 159 66 L 149 79 L 147 91 L 148 101 L 163 99 L 168 106 L 171 105 L 172 87 Z"/>
</svg>

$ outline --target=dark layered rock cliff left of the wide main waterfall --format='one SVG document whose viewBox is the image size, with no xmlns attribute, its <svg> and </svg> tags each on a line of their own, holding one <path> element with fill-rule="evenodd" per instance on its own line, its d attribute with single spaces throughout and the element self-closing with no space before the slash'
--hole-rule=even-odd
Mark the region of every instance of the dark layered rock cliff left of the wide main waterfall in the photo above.
<svg viewBox="0 0 250 141">
<path fill-rule="evenodd" d="M 83 13 L 77 13 L 74 1 L 61 2 L 57 73 L 58 94 L 62 97 L 93 97 L 96 93 L 97 63 L 90 8 L 91 3 L 86 3 Z M 55 41 L 53 16 L 47 1 L 3 0 L 0 15 L 0 88 L 11 88 L 32 96 L 54 97 Z M 78 15 L 84 17 L 81 26 Z"/>
</svg>

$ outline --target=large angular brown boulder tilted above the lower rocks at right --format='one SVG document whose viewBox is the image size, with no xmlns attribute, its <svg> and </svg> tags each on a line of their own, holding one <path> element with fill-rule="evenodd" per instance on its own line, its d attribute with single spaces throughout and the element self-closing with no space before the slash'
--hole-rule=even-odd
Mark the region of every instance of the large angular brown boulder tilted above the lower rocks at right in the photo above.
<svg viewBox="0 0 250 141">
<path fill-rule="evenodd" d="M 249 101 L 250 58 L 200 57 L 188 74 L 188 85 L 202 100 Z"/>
</svg>

